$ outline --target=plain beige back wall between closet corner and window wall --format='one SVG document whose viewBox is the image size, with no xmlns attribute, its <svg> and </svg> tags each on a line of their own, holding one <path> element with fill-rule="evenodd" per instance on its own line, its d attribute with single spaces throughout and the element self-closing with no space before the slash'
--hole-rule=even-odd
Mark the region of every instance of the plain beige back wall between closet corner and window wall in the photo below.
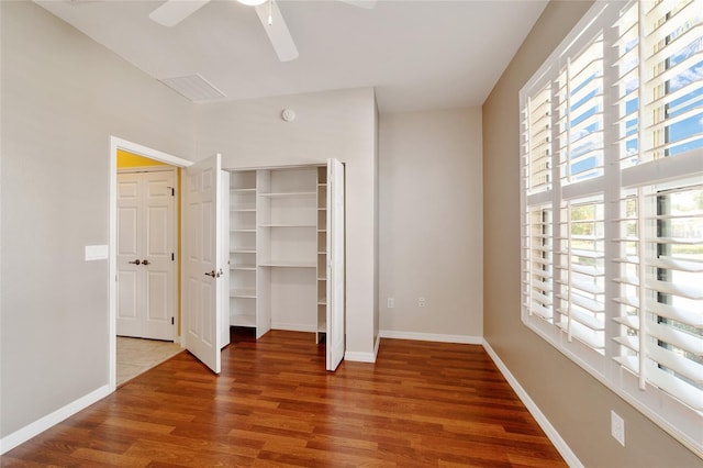
<svg viewBox="0 0 703 468">
<path fill-rule="evenodd" d="M 481 110 L 381 114 L 379 137 L 381 332 L 480 339 Z"/>
</svg>

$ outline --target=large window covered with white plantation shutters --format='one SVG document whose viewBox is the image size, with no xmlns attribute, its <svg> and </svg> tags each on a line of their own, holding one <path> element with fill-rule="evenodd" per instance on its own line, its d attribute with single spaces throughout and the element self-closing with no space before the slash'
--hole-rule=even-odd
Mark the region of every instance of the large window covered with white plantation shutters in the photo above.
<svg viewBox="0 0 703 468">
<path fill-rule="evenodd" d="M 596 2 L 520 99 L 523 322 L 703 457 L 703 0 Z"/>
</svg>

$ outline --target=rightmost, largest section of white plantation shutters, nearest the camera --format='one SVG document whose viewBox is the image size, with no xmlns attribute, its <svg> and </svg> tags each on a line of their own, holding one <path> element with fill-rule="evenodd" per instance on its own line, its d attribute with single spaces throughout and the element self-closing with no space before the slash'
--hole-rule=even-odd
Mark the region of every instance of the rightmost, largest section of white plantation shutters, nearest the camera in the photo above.
<svg viewBox="0 0 703 468">
<path fill-rule="evenodd" d="M 703 2 L 633 2 L 617 31 L 623 190 L 614 359 L 703 411 Z M 698 149 L 695 149 L 698 148 Z M 698 152 L 698 154 L 696 154 Z"/>
</svg>

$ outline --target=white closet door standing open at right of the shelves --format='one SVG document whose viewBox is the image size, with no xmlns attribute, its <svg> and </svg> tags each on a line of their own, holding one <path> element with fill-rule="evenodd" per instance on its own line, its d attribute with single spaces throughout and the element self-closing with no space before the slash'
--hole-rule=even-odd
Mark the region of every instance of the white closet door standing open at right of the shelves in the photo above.
<svg viewBox="0 0 703 468">
<path fill-rule="evenodd" d="M 336 370 L 345 350 L 344 165 L 327 159 L 326 368 Z"/>
</svg>

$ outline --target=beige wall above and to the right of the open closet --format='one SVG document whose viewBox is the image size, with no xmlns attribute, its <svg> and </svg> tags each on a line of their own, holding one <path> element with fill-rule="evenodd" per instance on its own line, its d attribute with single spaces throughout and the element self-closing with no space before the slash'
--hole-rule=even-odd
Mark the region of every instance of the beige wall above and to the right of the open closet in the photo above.
<svg viewBox="0 0 703 468">
<path fill-rule="evenodd" d="M 282 109 L 295 119 L 284 122 Z M 347 358 L 373 359 L 378 315 L 377 148 L 373 89 L 280 96 L 198 107 L 198 158 L 222 153 L 228 169 L 346 165 Z"/>
</svg>

